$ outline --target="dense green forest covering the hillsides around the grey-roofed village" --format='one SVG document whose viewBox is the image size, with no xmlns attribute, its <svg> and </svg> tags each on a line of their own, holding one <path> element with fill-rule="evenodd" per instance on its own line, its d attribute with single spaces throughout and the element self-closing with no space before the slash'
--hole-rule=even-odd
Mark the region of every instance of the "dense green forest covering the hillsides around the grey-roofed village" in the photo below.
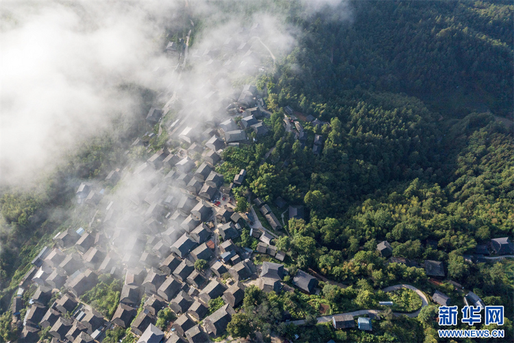
<svg viewBox="0 0 514 343">
<path fill-rule="evenodd" d="M 430 283 L 423 268 L 386 263 L 376 244 L 387 240 L 395 257 L 443 261 L 448 279 L 486 305 L 504 305 L 502 329 L 505 342 L 511 342 L 513 261 L 470 263 L 466 257 L 489 239 L 514 239 L 514 5 L 350 1 L 349 6 L 348 20 L 332 18 L 337 11 L 330 8 L 305 15 L 300 1 L 265 1 L 264 8 L 246 10 L 243 18 L 257 10 L 284 14 L 298 28 L 297 46 L 254 80 L 272 113 L 265 119 L 269 134 L 225 149 L 217 171 L 230 182 L 247 170 L 243 185 L 234 189 L 238 198 L 259 197 L 275 209 L 274 200 L 282 197 L 306 207 L 306 219 L 289 220 L 284 231 L 289 235 L 276 245 L 290 257 L 290 269 L 310 268 L 350 286 L 323 287 L 321 295 L 330 298 L 334 313 L 376 307 L 387 300 L 379 289 L 398 283 L 417 285 L 429 296 L 440 290 L 463 305 L 461 292 L 448 283 Z M 151 92 L 136 93 L 148 108 Z M 302 121 L 304 145 L 285 132 L 285 106 Z M 324 124 L 302 120 L 308 115 Z M 130 158 L 123 152 L 138 133 L 132 125 L 121 135 L 99 137 L 37 189 L 1 189 L 2 312 L 51 233 L 73 222 L 54 210 L 67 209 L 74 180 L 105 178 Z M 319 156 L 312 151 L 316 134 L 324 139 Z M 248 233 L 243 240 L 255 245 Z M 111 316 L 112 292 L 119 292 L 119 285 L 109 280 L 86 297 L 100 294 L 95 305 Z M 301 342 L 441 341 L 431 306 L 417 318 L 388 312 L 373 333 L 343 333 L 312 322 L 278 324 L 284 307 L 313 314 L 295 307 L 296 294 L 261 293 L 247 289 L 245 313 L 228 327 L 233 337 L 276 330 L 290 339 L 299 334 Z M 418 305 L 409 296 L 393 295 L 400 309 L 412 311 Z M 219 304 L 209 305 L 214 311 Z M 0 321 L 4 340 L 11 337 L 2 329 L 7 321 Z M 109 342 L 119 338 L 121 333 L 108 335 Z"/>
</svg>

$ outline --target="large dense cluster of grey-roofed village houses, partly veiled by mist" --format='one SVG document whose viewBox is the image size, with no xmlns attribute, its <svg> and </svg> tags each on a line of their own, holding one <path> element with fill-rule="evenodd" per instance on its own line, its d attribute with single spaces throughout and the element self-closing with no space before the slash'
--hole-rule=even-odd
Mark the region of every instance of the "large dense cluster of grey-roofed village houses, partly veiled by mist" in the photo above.
<svg viewBox="0 0 514 343">
<path fill-rule="evenodd" d="M 228 107 L 229 112 L 243 112 L 237 124 L 233 118 L 215 126 L 206 123 L 208 128 L 190 126 L 185 118 L 166 123 L 170 139 L 180 140 L 181 147 L 164 148 L 133 170 L 114 169 L 106 177 L 103 187 L 121 180 L 139 186 L 124 198 L 110 198 L 92 183 L 79 185 L 79 204 L 96 209 L 99 224 L 58 233 L 53 245 L 34 258 L 12 301 L 14 319 L 23 326 L 20 342 L 36 342 L 38 332 L 47 327 L 56 342 L 101 342 L 106 330 L 116 326 L 130 329 L 141 343 L 206 342 L 225 331 L 243 300 L 245 281 L 258 278 L 266 292 L 282 289 L 283 265 L 265 263 L 257 276 L 249 259 L 254 252 L 233 242 L 245 220 L 234 212 L 231 189 L 241 185 L 246 171 L 230 185 L 215 171 L 225 147 L 247 141 L 249 130 L 256 136 L 266 132 L 258 120 L 260 110 L 249 106 L 255 92 L 254 86 L 245 86 L 238 102 Z M 163 114 L 151 108 L 147 122 L 160 123 Z M 149 136 L 133 145 L 144 146 Z M 262 204 L 260 211 L 273 228 L 282 227 L 269 206 Z M 303 209 L 295 211 L 295 216 L 303 215 Z M 273 235 L 258 229 L 251 234 L 260 239 L 258 252 L 284 260 L 284 252 L 271 244 Z M 195 269 L 199 259 L 207 261 L 206 270 Z M 103 274 L 123 279 L 112 318 L 81 300 Z M 313 292 L 317 280 L 299 271 L 293 284 Z M 20 318 L 23 294 L 34 287 Z M 225 305 L 208 316 L 209 300 L 219 297 Z M 164 307 L 177 316 L 166 333 L 156 327 Z"/>
</svg>

